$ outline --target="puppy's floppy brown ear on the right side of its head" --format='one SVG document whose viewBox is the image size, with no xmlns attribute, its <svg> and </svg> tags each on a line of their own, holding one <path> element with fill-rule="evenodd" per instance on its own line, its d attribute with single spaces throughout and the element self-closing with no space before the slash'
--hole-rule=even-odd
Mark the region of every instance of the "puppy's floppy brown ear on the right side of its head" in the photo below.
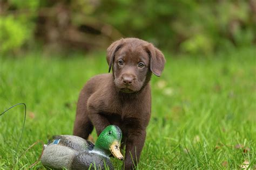
<svg viewBox="0 0 256 170">
<path fill-rule="evenodd" d="M 146 51 L 150 56 L 150 70 L 154 75 L 159 77 L 164 70 L 164 54 L 152 44 L 147 45 Z"/>
</svg>

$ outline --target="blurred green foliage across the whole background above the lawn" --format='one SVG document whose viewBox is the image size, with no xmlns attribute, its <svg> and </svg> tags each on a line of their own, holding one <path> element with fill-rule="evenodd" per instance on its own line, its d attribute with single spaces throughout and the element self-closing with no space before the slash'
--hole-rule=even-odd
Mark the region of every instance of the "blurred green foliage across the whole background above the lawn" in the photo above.
<svg viewBox="0 0 256 170">
<path fill-rule="evenodd" d="M 16 51 L 26 44 L 31 44 L 31 39 L 37 40 L 37 36 L 34 35 L 39 23 L 39 13 L 51 13 L 44 9 L 54 9 L 60 4 L 64 6 L 69 16 L 62 23 L 66 22 L 64 25 L 70 24 L 78 30 L 85 25 L 86 29 L 83 31 L 89 30 L 91 34 L 82 39 L 89 39 L 89 43 L 90 39 L 106 32 L 104 26 L 95 26 L 97 22 L 111 25 L 120 33 L 118 36 L 109 36 L 109 43 L 120 37 L 138 37 L 174 52 L 208 54 L 219 49 L 250 46 L 256 40 L 256 5 L 253 0 L 5 0 L 0 3 L 3 6 L 0 13 L 0 53 Z M 62 17 L 58 15 L 58 10 L 56 16 Z M 54 22 L 56 19 L 52 20 Z M 97 30 L 92 32 L 95 27 Z M 62 28 L 64 29 L 68 27 Z M 41 32 L 51 31 L 45 29 Z"/>
</svg>

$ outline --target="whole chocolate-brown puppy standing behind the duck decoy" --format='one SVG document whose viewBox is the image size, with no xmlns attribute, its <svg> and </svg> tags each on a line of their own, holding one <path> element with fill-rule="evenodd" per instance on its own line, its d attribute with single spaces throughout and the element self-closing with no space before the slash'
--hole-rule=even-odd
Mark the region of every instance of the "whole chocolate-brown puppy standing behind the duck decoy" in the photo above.
<svg viewBox="0 0 256 170">
<path fill-rule="evenodd" d="M 123 132 L 126 145 L 125 169 L 139 161 L 151 114 L 150 78 L 160 76 L 165 58 L 149 42 L 125 38 L 107 48 L 109 72 L 92 77 L 80 92 L 73 134 L 87 139 L 93 130 L 99 135 L 110 124 Z M 131 158 L 132 155 L 132 158 Z"/>
</svg>

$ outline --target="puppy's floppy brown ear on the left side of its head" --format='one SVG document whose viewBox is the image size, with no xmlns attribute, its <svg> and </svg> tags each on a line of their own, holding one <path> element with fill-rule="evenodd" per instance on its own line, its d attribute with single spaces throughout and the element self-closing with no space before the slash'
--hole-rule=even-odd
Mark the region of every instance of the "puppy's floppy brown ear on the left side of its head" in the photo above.
<svg viewBox="0 0 256 170">
<path fill-rule="evenodd" d="M 109 72 L 111 70 L 111 67 L 113 65 L 113 61 L 114 61 L 114 55 L 116 54 L 116 52 L 118 51 L 118 49 L 120 49 L 123 46 L 123 38 L 117 41 L 114 41 L 109 48 L 107 48 L 107 63 L 109 64 Z"/>
</svg>

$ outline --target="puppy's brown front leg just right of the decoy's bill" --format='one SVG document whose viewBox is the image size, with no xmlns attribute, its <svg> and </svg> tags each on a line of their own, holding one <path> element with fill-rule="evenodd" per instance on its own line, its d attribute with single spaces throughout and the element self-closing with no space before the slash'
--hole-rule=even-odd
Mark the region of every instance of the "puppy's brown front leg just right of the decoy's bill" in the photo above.
<svg viewBox="0 0 256 170">
<path fill-rule="evenodd" d="M 139 162 L 140 153 L 144 146 L 146 131 L 130 134 L 126 141 L 125 148 L 125 169 L 133 169 Z"/>
</svg>

